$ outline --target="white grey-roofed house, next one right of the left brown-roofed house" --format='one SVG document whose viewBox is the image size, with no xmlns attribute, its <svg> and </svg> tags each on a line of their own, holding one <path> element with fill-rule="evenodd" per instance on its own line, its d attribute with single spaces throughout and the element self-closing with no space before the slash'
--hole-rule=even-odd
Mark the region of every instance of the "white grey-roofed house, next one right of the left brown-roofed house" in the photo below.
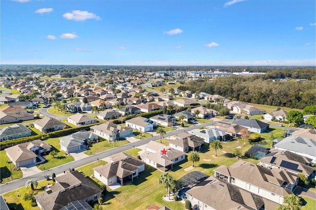
<svg viewBox="0 0 316 210">
<path fill-rule="evenodd" d="M 85 148 L 85 144 L 88 140 L 97 140 L 98 136 L 86 130 L 78 131 L 77 133 L 71 134 L 60 138 L 60 149 L 67 153 L 75 152 Z"/>
</svg>

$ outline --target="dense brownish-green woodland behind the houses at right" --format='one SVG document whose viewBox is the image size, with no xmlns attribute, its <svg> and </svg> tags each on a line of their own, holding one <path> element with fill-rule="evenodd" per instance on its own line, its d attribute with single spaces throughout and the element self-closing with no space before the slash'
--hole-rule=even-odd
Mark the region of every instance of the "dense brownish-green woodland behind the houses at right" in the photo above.
<svg viewBox="0 0 316 210">
<path fill-rule="evenodd" d="M 314 76 L 315 78 L 315 76 Z M 188 81 L 178 89 L 195 93 L 218 94 L 228 99 L 263 105 L 303 109 L 315 105 L 315 80 L 296 81 L 262 79 L 258 76 L 220 77 L 214 81 Z"/>
</svg>

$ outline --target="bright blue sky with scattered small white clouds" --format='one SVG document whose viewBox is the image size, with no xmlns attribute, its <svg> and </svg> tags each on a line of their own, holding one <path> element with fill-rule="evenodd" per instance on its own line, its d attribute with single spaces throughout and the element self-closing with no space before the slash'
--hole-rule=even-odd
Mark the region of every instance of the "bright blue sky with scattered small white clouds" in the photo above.
<svg viewBox="0 0 316 210">
<path fill-rule="evenodd" d="M 1 64 L 315 66 L 315 0 L 1 0 Z"/>
</svg>

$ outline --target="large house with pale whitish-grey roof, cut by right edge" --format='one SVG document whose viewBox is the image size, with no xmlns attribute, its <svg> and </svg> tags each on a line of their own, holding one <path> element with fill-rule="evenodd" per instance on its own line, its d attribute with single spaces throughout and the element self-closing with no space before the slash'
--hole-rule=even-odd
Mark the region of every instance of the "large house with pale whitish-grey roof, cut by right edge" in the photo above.
<svg viewBox="0 0 316 210">
<path fill-rule="evenodd" d="M 312 159 L 316 163 L 316 141 L 302 137 L 286 137 L 274 145 L 275 149 L 287 150 Z"/>
</svg>

